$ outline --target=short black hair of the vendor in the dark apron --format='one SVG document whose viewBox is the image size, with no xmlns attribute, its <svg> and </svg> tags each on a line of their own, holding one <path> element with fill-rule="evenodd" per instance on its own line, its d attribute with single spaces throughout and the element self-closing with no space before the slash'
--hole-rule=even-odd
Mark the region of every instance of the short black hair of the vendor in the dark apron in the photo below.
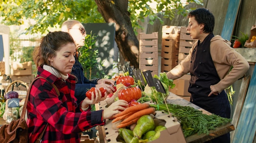
<svg viewBox="0 0 256 143">
<path fill-rule="evenodd" d="M 195 17 L 198 24 L 204 24 L 203 32 L 213 33 L 215 19 L 214 15 L 208 9 L 199 8 L 190 11 L 188 14 L 188 18 L 189 17 Z"/>
</svg>

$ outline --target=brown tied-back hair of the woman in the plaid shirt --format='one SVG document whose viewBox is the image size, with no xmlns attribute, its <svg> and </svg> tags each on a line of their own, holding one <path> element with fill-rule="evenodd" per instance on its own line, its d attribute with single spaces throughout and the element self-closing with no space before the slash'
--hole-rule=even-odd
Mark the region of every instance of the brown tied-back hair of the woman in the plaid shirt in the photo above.
<svg viewBox="0 0 256 143">
<path fill-rule="evenodd" d="M 68 43 L 74 43 L 74 40 L 67 32 L 54 31 L 42 37 L 40 45 L 34 49 L 33 60 L 36 67 L 50 65 L 48 58 L 56 56 L 56 51 Z"/>
</svg>

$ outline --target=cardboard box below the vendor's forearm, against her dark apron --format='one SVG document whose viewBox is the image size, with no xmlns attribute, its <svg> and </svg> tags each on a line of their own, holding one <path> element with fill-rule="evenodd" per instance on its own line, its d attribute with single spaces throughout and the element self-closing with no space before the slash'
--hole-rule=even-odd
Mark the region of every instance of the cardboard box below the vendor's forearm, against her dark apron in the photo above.
<svg viewBox="0 0 256 143">
<path fill-rule="evenodd" d="M 190 96 L 189 93 L 189 80 L 191 76 L 186 74 L 176 80 L 173 80 L 173 83 L 175 84 L 175 87 L 173 89 L 169 89 L 170 92 L 180 95 L 180 96 Z"/>
</svg>

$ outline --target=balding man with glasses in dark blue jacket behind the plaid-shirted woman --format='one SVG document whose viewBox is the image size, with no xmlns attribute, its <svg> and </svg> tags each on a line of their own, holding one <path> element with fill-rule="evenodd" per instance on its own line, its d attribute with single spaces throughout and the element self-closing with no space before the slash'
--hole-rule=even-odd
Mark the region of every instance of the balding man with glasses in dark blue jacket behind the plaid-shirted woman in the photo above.
<svg viewBox="0 0 256 143">
<path fill-rule="evenodd" d="M 68 32 L 73 37 L 74 42 L 76 44 L 76 51 L 78 48 L 85 45 L 85 36 L 86 31 L 83 27 L 83 24 L 77 20 L 67 20 L 63 22 L 61 26 L 61 31 Z M 77 98 L 77 103 L 81 103 L 84 100 L 85 93 L 88 89 L 92 87 L 100 88 L 104 87 L 108 93 L 113 93 L 115 89 L 112 87 L 114 86 L 115 82 L 110 79 L 100 79 L 95 78 L 88 80 L 85 78 L 83 73 L 83 67 L 81 63 L 78 61 L 79 53 L 76 53 L 75 56 L 75 64 L 73 65 L 71 74 L 74 74 L 77 77 L 77 83 L 75 88 L 75 97 Z"/>
</svg>

